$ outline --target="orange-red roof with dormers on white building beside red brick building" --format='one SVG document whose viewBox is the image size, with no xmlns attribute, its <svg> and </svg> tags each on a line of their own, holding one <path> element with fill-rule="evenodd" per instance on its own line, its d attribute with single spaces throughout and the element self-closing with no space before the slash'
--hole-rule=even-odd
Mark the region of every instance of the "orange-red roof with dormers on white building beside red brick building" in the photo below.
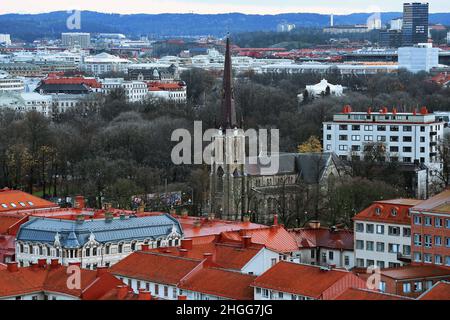
<svg viewBox="0 0 450 320">
<path fill-rule="evenodd" d="M 411 224 L 409 209 L 421 201 L 414 199 L 376 201 L 370 207 L 354 216 L 353 221 L 374 221 L 409 225 Z"/>
</svg>

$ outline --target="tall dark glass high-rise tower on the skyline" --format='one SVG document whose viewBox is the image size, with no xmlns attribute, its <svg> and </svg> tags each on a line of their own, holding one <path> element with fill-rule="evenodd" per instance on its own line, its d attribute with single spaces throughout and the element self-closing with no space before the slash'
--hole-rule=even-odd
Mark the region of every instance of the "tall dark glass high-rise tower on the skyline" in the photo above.
<svg viewBox="0 0 450 320">
<path fill-rule="evenodd" d="M 428 42 L 428 3 L 403 4 L 403 46 Z"/>
</svg>

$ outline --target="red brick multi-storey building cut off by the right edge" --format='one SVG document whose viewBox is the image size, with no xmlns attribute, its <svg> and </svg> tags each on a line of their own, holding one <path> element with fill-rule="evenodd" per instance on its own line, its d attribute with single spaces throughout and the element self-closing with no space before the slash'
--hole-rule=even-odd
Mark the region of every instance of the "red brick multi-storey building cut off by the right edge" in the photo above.
<svg viewBox="0 0 450 320">
<path fill-rule="evenodd" d="M 411 208 L 412 263 L 450 266 L 450 190 Z"/>
</svg>

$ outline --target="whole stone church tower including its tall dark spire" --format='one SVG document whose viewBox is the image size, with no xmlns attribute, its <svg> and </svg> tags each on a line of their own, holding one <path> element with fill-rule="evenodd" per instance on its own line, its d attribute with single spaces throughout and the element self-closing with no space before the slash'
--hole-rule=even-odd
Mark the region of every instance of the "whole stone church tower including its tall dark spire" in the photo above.
<svg viewBox="0 0 450 320">
<path fill-rule="evenodd" d="M 210 212 L 221 219 L 240 220 L 245 212 L 245 135 L 237 123 L 233 92 L 230 39 L 227 38 L 223 72 L 222 105 L 213 136 L 210 171 Z"/>
</svg>

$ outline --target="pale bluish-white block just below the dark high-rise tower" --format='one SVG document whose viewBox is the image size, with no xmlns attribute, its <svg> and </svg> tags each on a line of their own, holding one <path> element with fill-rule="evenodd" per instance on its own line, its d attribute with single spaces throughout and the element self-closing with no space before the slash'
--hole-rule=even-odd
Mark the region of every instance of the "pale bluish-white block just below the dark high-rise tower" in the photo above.
<svg viewBox="0 0 450 320">
<path fill-rule="evenodd" d="M 398 66 L 411 72 L 426 71 L 439 66 L 439 48 L 431 43 L 398 49 Z"/>
</svg>

